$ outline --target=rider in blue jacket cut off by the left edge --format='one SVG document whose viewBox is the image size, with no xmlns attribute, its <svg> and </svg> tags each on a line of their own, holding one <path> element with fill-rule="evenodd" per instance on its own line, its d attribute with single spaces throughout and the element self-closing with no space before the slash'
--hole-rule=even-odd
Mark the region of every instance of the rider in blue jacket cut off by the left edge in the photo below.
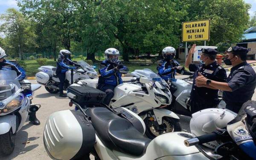
<svg viewBox="0 0 256 160">
<path fill-rule="evenodd" d="M 4 57 L 6 56 L 5 51 L 0 47 L 0 70 L 15 70 L 17 73 L 17 80 L 22 82 L 26 77 L 25 70 L 17 63 L 5 60 Z M 35 114 L 36 112 L 29 112 L 29 121 L 34 125 L 40 125 L 40 121 L 36 118 Z"/>
</svg>

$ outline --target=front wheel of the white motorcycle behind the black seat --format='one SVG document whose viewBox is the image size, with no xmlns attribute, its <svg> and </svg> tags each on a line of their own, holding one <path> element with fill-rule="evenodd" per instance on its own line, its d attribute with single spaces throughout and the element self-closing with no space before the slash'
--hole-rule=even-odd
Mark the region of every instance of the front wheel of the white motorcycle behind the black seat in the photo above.
<svg viewBox="0 0 256 160">
<path fill-rule="evenodd" d="M 146 125 L 145 135 L 153 140 L 155 137 L 170 133 L 181 131 L 181 125 L 179 119 L 171 118 L 171 117 L 163 117 L 163 121 L 161 125 L 154 125 L 154 123 L 149 119 L 149 117 L 144 119 Z"/>
</svg>

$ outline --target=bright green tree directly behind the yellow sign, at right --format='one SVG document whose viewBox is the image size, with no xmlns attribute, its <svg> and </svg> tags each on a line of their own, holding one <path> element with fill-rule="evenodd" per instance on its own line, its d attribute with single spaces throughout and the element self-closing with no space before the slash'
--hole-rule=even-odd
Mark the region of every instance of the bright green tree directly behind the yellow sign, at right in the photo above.
<svg viewBox="0 0 256 160">
<path fill-rule="evenodd" d="M 183 0 L 189 5 L 186 21 L 210 19 L 210 41 L 236 43 L 242 38 L 249 21 L 250 4 L 244 0 Z"/>
</svg>

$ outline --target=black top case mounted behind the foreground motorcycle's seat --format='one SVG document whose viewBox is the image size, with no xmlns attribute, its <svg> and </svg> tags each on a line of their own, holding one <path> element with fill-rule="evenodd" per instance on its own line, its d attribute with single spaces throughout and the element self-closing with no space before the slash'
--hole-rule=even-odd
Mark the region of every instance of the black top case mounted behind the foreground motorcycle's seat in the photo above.
<svg viewBox="0 0 256 160">
<path fill-rule="evenodd" d="M 70 86 L 67 92 L 76 95 L 73 100 L 79 104 L 98 104 L 106 96 L 105 92 L 89 86 Z"/>
</svg>

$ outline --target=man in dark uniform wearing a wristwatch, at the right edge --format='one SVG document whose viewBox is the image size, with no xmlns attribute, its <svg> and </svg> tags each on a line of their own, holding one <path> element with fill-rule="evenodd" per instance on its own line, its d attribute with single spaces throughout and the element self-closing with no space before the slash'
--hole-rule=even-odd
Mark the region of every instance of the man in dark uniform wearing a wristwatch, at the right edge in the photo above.
<svg viewBox="0 0 256 160">
<path fill-rule="evenodd" d="M 244 47 L 230 47 L 226 51 L 226 65 L 232 65 L 227 83 L 219 81 L 210 81 L 207 77 L 199 76 L 196 79 L 198 85 L 207 85 L 223 90 L 223 99 L 226 102 L 226 108 L 239 112 L 242 104 L 251 100 L 256 87 L 256 73 L 250 64 L 247 64 L 248 49 Z"/>
</svg>

